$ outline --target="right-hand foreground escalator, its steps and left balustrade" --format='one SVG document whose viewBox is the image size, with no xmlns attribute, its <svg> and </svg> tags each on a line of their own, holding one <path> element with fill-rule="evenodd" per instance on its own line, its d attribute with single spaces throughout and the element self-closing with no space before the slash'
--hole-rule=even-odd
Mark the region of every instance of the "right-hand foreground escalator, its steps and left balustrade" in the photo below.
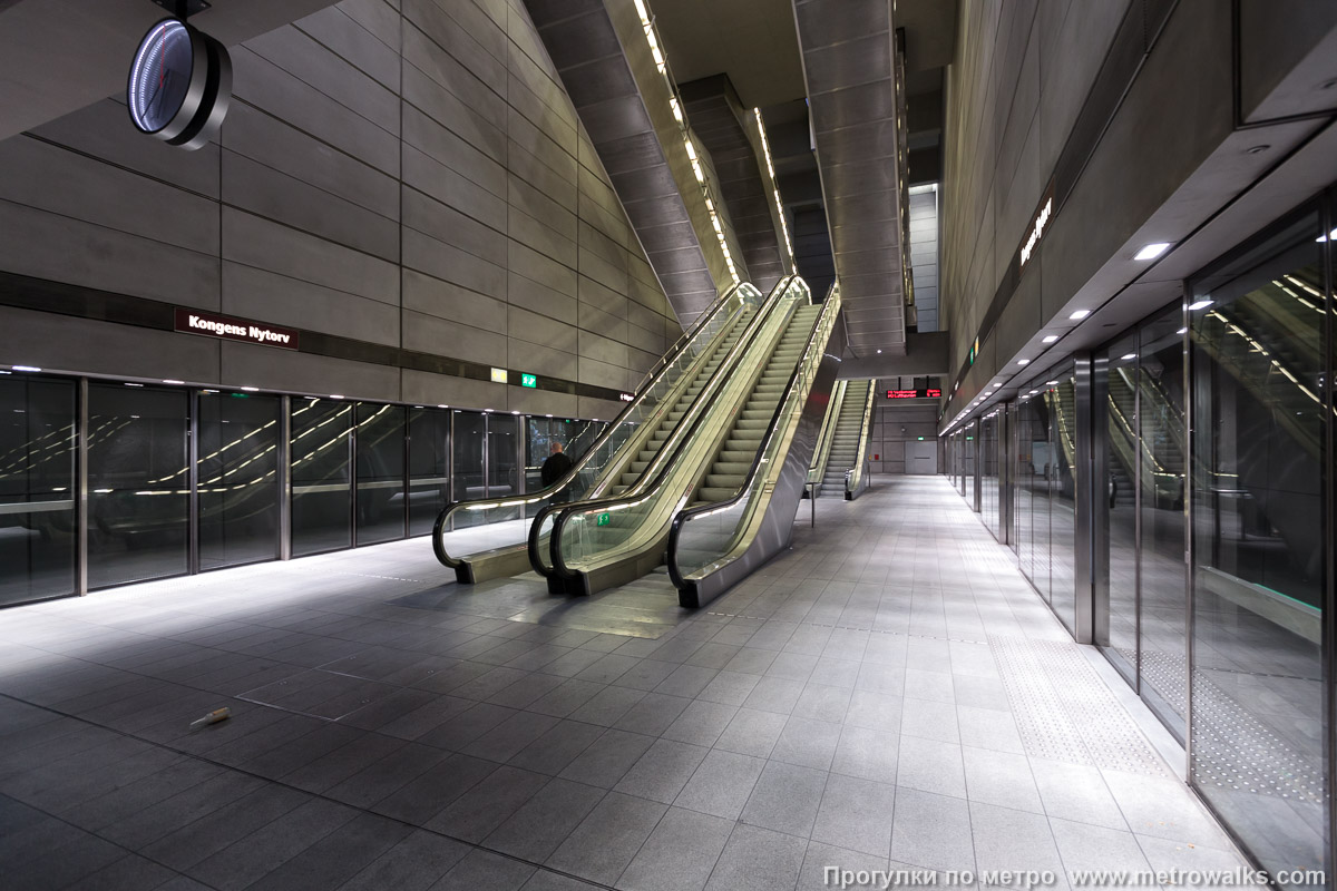
<svg viewBox="0 0 1337 891">
<path fill-rule="evenodd" d="M 550 577 L 550 589 L 588 594 L 646 576 L 664 562 L 664 546 L 679 512 L 729 504 L 746 492 L 761 461 L 770 461 L 767 470 L 787 466 L 792 431 L 783 439 L 785 452 L 762 456 L 778 445 L 777 418 L 798 418 L 793 403 L 800 389 L 805 395 L 800 407 L 806 406 L 806 395 L 818 381 L 814 370 L 830 369 L 820 378 L 829 390 L 834 359 L 826 362 L 824 351 L 840 301 L 837 297 L 812 305 L 808 286 L 797 277 L 782 279 L 777 290 L 778 297 L 773 293 L 767 298 L 743 342 L 702 390 L 694 417 L 682 419 L 634 485 L 612 498 L 540 513 L 531 530 L 529 557 L 533 568 Z M 820 402 L 825 398 L 822 391 Z M 810 426 L 812 435 L 801 450 L 804 470 L 812 457 L 817 421 Z M 786 538 L 801 488 L 802 474 L 785 517 Z M 541 548 L 544 538 L 547 553 Z"/>
</svg>

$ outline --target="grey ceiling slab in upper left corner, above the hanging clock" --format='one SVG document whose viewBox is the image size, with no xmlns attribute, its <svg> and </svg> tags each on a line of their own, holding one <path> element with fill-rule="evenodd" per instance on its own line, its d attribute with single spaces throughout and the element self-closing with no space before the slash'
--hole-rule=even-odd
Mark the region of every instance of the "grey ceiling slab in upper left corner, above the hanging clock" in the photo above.
<svg viewBox="0 0 1337 891">
<path fill-rule="evenodd" d="M 227 0 L 190 23 L 230 47 L 329 5 Z M 0 0 L 0 139 L 123 92 L 135 47 L 166 16 L 152 0 Z"/>
</svg>

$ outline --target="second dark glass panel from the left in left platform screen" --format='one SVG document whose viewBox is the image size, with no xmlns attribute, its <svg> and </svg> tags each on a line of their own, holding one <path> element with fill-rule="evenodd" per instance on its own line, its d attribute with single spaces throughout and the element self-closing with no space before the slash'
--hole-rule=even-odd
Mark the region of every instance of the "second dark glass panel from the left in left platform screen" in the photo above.
<svg viewBox="0 0 1337 891">
<path fill-rule="evenodd" d="M 88 386 L 88 586 L 187 570 L 187 394 Z"/>
</svg>

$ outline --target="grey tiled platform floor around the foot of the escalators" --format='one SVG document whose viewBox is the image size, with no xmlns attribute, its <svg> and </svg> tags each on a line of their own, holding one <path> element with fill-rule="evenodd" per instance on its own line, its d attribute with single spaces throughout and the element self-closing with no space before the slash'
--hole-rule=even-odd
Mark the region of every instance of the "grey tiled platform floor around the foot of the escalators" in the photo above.
<svg viewBox="0 0 1337 891">
<path fill-rule="evenodd" d="M 9 887 L 1238 863 L 940 478 L 821 500 L 695 614 L 658 576 L 461 589 L 416 540 L 9 609 L 0 641 Z"/>
</svg>

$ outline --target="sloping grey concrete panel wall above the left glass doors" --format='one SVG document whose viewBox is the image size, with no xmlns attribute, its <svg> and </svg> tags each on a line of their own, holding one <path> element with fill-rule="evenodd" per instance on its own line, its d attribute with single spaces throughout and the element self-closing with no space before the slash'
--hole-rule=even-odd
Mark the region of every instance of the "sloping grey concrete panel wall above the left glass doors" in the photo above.
<svg viewBox="0 0 1337 891">
<path fill-rule="evenodd" d="M 519 0 L 345 0 L 233 63 L 198 152 L 135 134 L 118 98 L 0 143 L 0 270 L 610 390 L 681 334 Z M 616 409 L 32 309 L 0 306 L 0 362 Z"/>
</svg>

